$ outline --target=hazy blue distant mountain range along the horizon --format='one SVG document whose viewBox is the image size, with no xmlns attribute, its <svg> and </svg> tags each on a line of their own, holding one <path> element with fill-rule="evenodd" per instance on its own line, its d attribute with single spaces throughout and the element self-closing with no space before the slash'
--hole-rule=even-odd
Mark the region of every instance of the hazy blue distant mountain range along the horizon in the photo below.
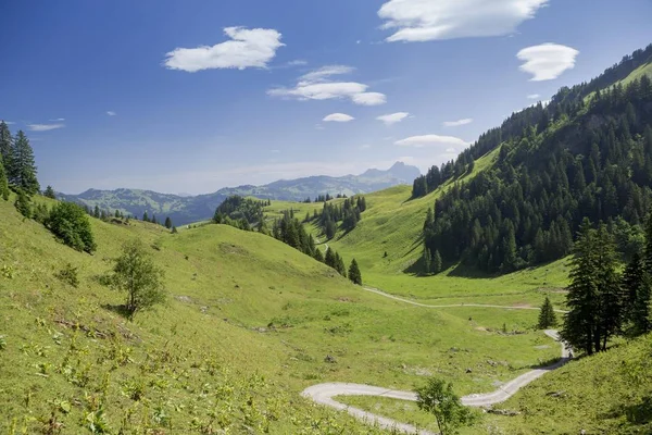
<svg viewBox="0 0 652 435">
<path fill-rule="evenodd" d="M 361 175 L 341 177 L 319 175 L 290 181 L 280 179 L 264 186 L 225 187 L 214 194 L 199 196 L 159 194 L 139 189 L 88 189 L 79 195 L 58 194 L 58 197 L 91 208 L 98 206 L 101 210 L 120 210 L 138 219 L 147 211 L 150 217 L 155 214 L 161 221 L 170 216 L 175 225 L 184 225 L 211 219 L 217 206 L 233 195 L 283 201 L 302 201 L 305 198 L 314 200 L 316 196 L 323 194 L 351 196 L 400 184 L 412 184 L 419 175 L 421 172 L 416 166 L 397 162 L 387 171 L 374 169 Z"/>
</svg>

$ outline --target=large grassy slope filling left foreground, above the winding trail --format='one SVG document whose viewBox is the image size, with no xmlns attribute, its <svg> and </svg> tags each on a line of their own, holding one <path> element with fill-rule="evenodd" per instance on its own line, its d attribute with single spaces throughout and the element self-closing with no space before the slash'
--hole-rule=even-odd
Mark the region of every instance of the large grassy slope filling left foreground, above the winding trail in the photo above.
<svg viewBox="0 0 652 435">
<path fill-rule="evenodd" d="M 228 418 L 234 433 L 265 424 L 272 433 L 328 433 L 333 425 L 367 433 L 298 393 L 335 381 L 411 388 L 428 373 L 450 377 L 461 394 L 484 391 L 556 355 L 538 348 L 548 340 L 528 330 L 534 312 L 405 306 L 260 234 L 208 225 L 171 235 L 142 222 L 91 222 L 95 256 L 62 246 L 0 201 L 2 433 L 12 424 L 35 432 L 52 410 L 64 433 L 78 433 L 100 402 L 114 431 L 124 419 L 130 431 L 170 424 L 174 433 Z M 122 297 L 96 279 L 129 237 L 158 247 L 171 294 L 166 307 L 135 323 L 111 310 Z M 53 276 L 68 262 L 79 268 L 79 288 Z M 503 335 L 503 323 L 527 333 Z M 115 365 L 128 352 L 130 361 Z M 139 388 L 143 397 L 134 400 Z M 62 401 L 72 403 L 68 414 Z"/>
</svg>

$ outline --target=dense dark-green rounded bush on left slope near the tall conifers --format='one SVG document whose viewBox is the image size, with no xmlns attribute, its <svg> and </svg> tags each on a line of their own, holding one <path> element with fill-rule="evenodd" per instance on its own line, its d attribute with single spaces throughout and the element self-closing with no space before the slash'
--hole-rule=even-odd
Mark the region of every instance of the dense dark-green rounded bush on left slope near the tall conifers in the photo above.
<svg viewBox="0 0 652 435">
<path fill-rule="evenodd" d="M 50 212 L 48 228 L 65 245 L 91 253 L 97 245 L 84 209 L 72 202 L 61 202 Z"/>
</svg>

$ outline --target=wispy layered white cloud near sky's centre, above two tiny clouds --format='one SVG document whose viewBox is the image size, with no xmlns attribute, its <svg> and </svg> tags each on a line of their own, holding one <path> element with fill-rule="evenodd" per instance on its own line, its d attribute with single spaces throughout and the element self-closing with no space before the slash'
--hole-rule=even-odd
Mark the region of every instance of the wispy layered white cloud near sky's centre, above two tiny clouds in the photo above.
<svg viewBox="0 0 652 435">
<path fill-rule="evenodd" d="M 350 99 L 360 105 L 385 104 L 387 98 L 380 92 L 367 92 L 368 85 L 356 82 L 333 82 L 334 75 L 350 74 L 355 69 L 346 65 L 328 65 L 299 77 L 293 88 L 267 90 L 271 97 L 296 98 L 298 100 Z"/>
</svg>

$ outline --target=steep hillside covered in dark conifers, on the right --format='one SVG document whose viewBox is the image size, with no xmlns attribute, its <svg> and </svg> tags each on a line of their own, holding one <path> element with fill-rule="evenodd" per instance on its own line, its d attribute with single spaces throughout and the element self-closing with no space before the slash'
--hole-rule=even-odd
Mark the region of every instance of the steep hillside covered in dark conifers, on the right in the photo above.
<svg viewBox="0 0 652 435">
<path fill-rule="evenodd" d="M 438 198 L 424 225 L 426 249 L 446 263 L 511 272 L 569 253 L 589 217 L 609 223 L 622 251 L 636 250 L 652 203 L 652 80 L 624 78 L 650 59 L 652 45 L 561 89 L 547 107 L 512 115 L 454 163 L 417 178 L 413 196 L 500 147 L 491 169 Z"/>
</svg>

